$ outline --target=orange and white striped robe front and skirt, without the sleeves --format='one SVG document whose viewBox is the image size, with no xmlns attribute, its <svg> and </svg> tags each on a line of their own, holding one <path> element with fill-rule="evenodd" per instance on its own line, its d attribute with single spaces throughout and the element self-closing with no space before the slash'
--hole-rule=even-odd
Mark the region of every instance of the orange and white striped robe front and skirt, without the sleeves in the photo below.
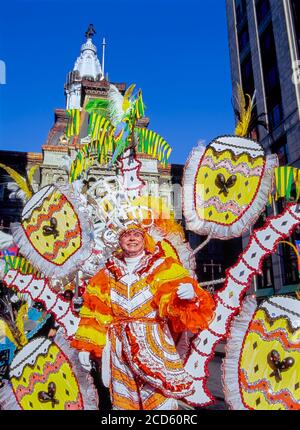
<svg viewBox="0 0 300 430">
<path fill-rule="evenodd" d="M 112 311 L 115 320 L 120 319 L 120 324 L 115 321 L 109 334 L 113 408 L 160 409 L 170 396 L 176 396 L 176 391 L 178 395 L 177 381 L 184 385 L 186 375 L 167 327 L 155 322 L 157 311 L 146 278 L 131 285 L 124 283 L 126 280 L 126 275 L 120 281 L 110 279 Z M 132 353 L 130 364 L 124 362 L 122 350 L 135 348 L 144 351 L 144 359 L 139 357 L 135 363 Z M 155 388 L 156 378 L 159 390 Z"/>
</svg>

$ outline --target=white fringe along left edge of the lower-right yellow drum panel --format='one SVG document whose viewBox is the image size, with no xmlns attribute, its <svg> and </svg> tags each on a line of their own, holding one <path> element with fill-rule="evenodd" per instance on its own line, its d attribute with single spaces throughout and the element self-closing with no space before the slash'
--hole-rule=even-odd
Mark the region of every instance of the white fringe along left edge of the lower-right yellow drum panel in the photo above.
<svg viewBox="0 0 300 430">
<path fill-rule="evenodd" d="M 233 320 L 222 363 L 222 386 L 225 401 L 231 409 L 247 410 L 242 402 L 239 388 L 239 358 L 245 334 L 256 311 L 254 297 L 248 296 L 243 302 L 241 313 Z"/>
</svg>

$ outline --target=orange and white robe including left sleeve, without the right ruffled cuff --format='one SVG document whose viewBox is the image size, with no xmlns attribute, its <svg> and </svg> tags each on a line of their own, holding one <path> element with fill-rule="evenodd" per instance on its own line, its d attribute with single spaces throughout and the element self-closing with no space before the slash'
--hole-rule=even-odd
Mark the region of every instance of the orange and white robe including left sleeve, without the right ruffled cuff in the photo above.
<svg viewBox="0 0 300 430">
<path fill-rule="evenodd" d="M 159 285 L 165 298 L 165 281 L 180 282 L 186 270 L 163 256 L 161 248 L 145 255 L 133 274 L 114 257 L 84 295 L 72 346 L 100 357 L 109 339 L 114 409 L 177 409 L 177 400 L 192 393 L 192 380 L 153 300 Z"/>
</svg>

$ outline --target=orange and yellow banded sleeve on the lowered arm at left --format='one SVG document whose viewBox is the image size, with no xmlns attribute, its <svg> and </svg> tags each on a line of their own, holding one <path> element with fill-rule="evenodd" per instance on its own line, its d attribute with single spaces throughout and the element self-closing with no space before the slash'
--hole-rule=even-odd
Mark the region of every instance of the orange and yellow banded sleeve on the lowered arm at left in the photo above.
<svg viewBox="0 0 300 430">
<path fill-rule="evenodd" d="M 90 280 L 79 316 L 80 323 L 71 345 L 100 358 L 106 344 L 106 327 L 113 319 L 105 269 Z"/>
</svg>

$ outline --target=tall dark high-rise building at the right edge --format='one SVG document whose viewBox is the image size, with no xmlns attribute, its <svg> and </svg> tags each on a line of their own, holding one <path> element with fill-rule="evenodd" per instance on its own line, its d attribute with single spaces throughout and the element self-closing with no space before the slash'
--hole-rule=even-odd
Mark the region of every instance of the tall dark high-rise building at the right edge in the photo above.
<svg viewBox="0 0 300 430">
<path fill-rule="evenodd" d="M 259 126 L 255 137 L 280 165 L 300 168 L 300 1 L 226 0 L 226 7 L 233 93 L 237 83 L 256 93 L 255 114 L 265 114 L 268 131 Z M 265 290 L 290 292 L 299 281 L 289 246 L 265 266 Z"/>
</svg>

